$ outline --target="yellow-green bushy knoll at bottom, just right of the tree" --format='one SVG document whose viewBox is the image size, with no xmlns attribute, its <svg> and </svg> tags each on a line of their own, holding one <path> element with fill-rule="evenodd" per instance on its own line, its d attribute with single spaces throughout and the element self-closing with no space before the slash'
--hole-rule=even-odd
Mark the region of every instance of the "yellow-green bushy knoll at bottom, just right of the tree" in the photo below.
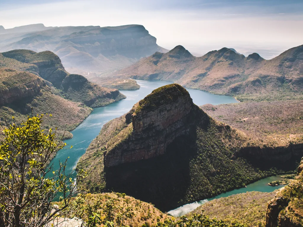
<svg viewBox="0 0 303 227">
<path fill-rule="evenodd" d="M 54 202 L 62 207 L 63 202 Z M 87 227 L 105 226 L 155 226 L 163 222 L 166 214 L 153 205 L 124 193 L 79 194 L 71 202 L 66 217 L 82 219 Z M 97 217 L 97 218 L 96 218 Z M 108 223 L 109 222 L 109 223 Z"/>
</svg>

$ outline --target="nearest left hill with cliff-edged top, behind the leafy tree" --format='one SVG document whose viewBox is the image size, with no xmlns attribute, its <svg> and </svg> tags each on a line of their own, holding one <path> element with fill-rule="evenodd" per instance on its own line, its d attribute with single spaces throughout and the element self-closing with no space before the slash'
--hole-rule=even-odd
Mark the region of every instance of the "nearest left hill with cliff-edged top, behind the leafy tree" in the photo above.
<svg viewBox="0 0 303 227">
<path fill-rule="evenodd" d="M 15 116 L 17 124 L 26 120 L 28 115 L 52 113 L 52 117 L 45 117 L 45 128 L 58 127 L 59 135 L 72 137 L 68 131 L 73 130 L 92 111 L 81 103 L 66 100 L 56 94 L 52 87 L 32 73 L 16 71 L 10 68 L 0 68 L 0 120 L 1 125 L 12 123 Z M 3 134 L 0 134 L 0 138 Z"/>
</svg>

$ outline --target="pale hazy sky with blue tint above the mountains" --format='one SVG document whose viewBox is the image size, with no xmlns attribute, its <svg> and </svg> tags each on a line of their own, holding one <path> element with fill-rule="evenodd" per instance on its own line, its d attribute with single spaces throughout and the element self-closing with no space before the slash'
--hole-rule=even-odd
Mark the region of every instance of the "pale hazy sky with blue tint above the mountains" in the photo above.
<svg viewBox="0 0 303 227">
<path fill-rule="evenodd" d="M 303 0 L 0 0 L 0 25 L 140 24 L 172 49 L 205 54 L 222 47 L 266 59 L 303 44 Z"/>
</svg>

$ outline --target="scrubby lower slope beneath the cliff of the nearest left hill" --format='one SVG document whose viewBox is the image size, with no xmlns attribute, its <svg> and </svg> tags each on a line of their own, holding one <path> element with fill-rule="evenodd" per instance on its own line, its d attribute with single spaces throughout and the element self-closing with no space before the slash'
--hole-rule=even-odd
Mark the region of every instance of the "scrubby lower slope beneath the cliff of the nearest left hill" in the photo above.
<svg viewBox="0 0 303 227">
<path fill-rule="evenodd" d="M 31 110 L 32 108 L 32 110 Z M 91 108 L 81 104 L 66 100 L 58 95 L 53 94 L 51 88 L 44 87 L 41 93 L 30 100 L 24 102 L 9 104 L 0 107 L 0 123 L 5 125 L 5 119 L 12 123 L 12 116 L 15 116 L 17 124 L 26 120 L 27 115 L 33 111 L 37 113 L 52 113 L 52 117 L 45 117 L 42 122 L 43 128 L 58 127 L 57 133 L 71 138 L 72 133 L 69 131 L 75 129 L 92 111 Z M 66 130 L 66 131 L 65 131 Z M 0 138 L 4 136 L 0 133 Z"/>
</svg>

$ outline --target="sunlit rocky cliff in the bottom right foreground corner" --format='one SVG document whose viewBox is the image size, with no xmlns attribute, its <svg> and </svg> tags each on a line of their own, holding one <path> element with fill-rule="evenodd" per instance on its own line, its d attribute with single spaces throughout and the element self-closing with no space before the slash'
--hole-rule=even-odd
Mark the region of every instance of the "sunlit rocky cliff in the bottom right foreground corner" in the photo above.
<svg viewBox="0 0 303 227">
<path fill-rule="evenodd" d="M 303 226 L 303 158 L 298 167 L 298 177 L 277 192 L 268 202 L 266 227 Z"/>
</svg>

